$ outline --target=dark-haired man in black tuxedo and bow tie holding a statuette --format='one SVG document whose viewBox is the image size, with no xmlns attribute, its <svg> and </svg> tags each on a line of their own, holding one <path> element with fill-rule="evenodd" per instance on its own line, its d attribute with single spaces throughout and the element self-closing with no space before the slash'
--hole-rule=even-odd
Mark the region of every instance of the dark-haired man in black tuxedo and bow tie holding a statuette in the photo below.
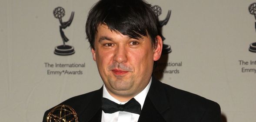
<svg viewBox="0 0 256 122">
<path fill-rule="evenodd" d="M 152 76 L 163 42 L 150 4 L 100 0 L 89 12 L 86 35 L 103 87 L 60 103 L 79 122 L 220 122 L 216 102 Z"/>
</svg>

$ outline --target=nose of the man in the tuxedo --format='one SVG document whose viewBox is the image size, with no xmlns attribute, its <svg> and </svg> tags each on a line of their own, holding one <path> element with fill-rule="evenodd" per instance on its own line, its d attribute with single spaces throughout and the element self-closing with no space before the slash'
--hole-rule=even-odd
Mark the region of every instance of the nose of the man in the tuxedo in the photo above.
<svg viewBox="0 0 256 122">
<path fill-rule="evenodd" d="M 116 61 L 117 63 L 126 63 L 127 52 L 125 46 L 117 46 L 114 54 L 114 61 Z"/>
</svg>

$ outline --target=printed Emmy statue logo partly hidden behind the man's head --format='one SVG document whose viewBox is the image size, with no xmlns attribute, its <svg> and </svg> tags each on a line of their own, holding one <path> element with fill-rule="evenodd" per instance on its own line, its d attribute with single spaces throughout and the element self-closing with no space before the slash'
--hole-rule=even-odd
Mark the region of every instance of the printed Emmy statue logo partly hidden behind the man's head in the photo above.
<svg viewBox="0 0 256 122">
<path fill-rule="evenodd" d="M 154 13 L 156 14 L 157 17 L 159 17 L 161 15 L 161 13 L 162 13 L 162 9 L 159 6 L 153 6 L 152 10 L 154 11 Z M 164 25 L 166 25 L 168 23 L 168 21 L 170 19 L 170 16 L 171 16 L 171 10 L 168 10 L 168 13 L 167 13 L 165 19 L 159 21 L 160 28 L 162 28 Z M 165 40 L 163 35 L 161 35 L 161 36 L 162 36 L 162 39 Z M 171 53 L 171 52 L 172 52 L 171 46 L 163 44 L 162 53 L 163 54 L 168 54 L 168 53 Z"/>
</svg>

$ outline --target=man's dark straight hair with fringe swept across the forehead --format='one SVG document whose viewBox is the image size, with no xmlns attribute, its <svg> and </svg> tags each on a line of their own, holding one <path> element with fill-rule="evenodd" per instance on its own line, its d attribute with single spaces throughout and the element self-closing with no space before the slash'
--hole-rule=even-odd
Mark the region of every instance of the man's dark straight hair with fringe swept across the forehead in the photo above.
<svg viewBox="0 0 256 122">
<path fill-rule="evenodd" d="M 110 30 L 139 39 L 149 35 L 153 45 L 162 36 L 158 17 L 144 0 L 100 0 L 90 10 L 86 21 L 86 39 L 94 49 L 97 27 L 106 24 Z"/>
</svg>

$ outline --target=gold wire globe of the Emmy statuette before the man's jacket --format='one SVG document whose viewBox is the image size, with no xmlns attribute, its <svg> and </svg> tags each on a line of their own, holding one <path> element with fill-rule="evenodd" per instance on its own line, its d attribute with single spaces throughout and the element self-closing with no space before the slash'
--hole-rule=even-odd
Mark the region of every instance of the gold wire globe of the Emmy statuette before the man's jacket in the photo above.
<svg viewBox="0 0 256 122">
<path fill-rule="evenodd" d="M 60 105 L 48 113 L 47 122 L 78 122 L 78 118 L 73 108 Z"/>
</svg>

